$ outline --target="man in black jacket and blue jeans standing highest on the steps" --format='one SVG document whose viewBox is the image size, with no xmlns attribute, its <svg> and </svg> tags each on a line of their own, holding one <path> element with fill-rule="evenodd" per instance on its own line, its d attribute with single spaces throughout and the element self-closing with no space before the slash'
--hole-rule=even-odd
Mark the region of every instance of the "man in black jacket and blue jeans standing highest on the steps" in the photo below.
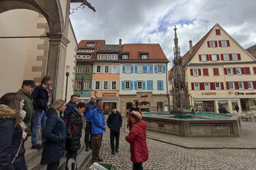
<svg viewBox="0 0 256 170">
<path fill-rule="evenodd" d="M 46 124 L 46 111 L 53 104 L 53 93 L 51 92 L 52 80 L 50 76 L 44 76 L 40 86 L 36 86 L 31 97 L 33 98 L 33 109 L 35 111 L 35 118 L 33 123 L 33 131 L 31 137 L 31 149 L 41 149 L 42 146 L 38 143 L 38 131 L 41 126 L 41 132 L 44 130 Z M 45 139 L 42 138 L 42 143 Z"/>
</svg>

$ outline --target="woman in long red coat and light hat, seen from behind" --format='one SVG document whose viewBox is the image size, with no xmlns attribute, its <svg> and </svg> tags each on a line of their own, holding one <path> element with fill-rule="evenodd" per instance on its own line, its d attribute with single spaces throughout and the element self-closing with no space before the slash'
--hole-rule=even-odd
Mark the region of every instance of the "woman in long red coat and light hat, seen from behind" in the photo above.
<svg viewBox="0 0 256 170">
<path fill-rule="evenodd" d="M 148 159 L 146 127 L 145 121 L 141 120 L 139 112 L 132 111 L 130 115 L 132 128 L 126 136 L 126 141 L 130 143 L 130 160 L 132 161 L 133 170 L 142 170 L 142 163 Z"/>
</svg>

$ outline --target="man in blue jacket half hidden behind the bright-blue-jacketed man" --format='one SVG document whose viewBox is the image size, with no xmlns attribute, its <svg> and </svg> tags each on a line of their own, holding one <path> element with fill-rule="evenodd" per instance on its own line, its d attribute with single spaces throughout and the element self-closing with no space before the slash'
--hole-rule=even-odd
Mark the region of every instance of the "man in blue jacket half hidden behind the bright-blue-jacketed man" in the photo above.
<svg viewBox="0 0 256 170">
<path fill-rule="evenodd" d="M 86 103 L 87 108 L 83 115 L 85 116 L 86 120 L 86 127 L 85 127 L 85 151 L 89 151 L 91 148 L 91 114 L 92 110 L 96 107 L 96 97 L 92 96 L 90 101 Z"/>
</svg>

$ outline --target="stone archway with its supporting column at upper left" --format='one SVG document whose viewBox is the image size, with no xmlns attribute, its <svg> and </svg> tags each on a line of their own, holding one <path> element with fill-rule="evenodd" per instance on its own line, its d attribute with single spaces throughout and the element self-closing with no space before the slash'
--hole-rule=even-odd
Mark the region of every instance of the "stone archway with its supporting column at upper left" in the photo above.
<svg viewBox="0 0 256 170">
<path fill-rule="evenodd" d="M 0 14 L 16 9 L 33 10 L 46 18 L 50 29 L 46 75 L 53 79 L 55 99 L 63 99 L 70 0 L 0 0 Z"/>
</svg>

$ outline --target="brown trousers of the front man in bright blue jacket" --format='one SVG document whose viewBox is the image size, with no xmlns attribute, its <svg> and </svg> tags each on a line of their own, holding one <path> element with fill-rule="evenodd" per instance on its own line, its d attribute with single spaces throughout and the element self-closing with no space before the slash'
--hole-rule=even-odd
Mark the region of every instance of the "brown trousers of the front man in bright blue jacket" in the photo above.
<svg viewBox="0 0 256 170">
<path fill-rule="evenodd" d="M 103 133 L 91 135 L 91 141 L 92 141 L 91 164 L 97 162 L 98 158 L 100 158 L 100 147 L 102 142 L 102 136 L 103 136 Z"/>
</svg>

